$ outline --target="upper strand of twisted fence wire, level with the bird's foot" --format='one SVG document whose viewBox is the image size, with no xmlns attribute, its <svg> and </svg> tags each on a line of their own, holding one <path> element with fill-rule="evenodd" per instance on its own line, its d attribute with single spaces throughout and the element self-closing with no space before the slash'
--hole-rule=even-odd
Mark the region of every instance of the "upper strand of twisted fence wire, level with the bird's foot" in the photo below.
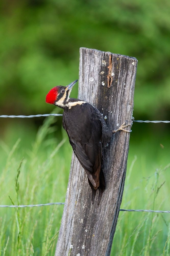
<svg viewBox="0 0 170 256">
<path fill-rule="evenodd" d="M 38 115 L 0 115 L 0 117 L 3 118 L 32 118 L 32 117 L 41 117 L 41 116 L 62 116 L 62 114 L 38 114 Z M 149 120 L 133 120 L 133 122 L 137 122 L 137 123 L 170 123 L 170 121 L 149 121 Z"/>
</svg>

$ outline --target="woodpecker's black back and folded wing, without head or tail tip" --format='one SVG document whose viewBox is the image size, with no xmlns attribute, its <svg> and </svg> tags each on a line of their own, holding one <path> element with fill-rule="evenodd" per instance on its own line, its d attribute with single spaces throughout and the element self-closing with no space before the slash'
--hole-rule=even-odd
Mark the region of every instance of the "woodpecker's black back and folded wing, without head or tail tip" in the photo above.
<svg viewBox="0 0 170 256">
<path fill-rule="evenodd" d="M 102 158 L 102 124 L 95 111 L 96 108 L 89 103 L 73 106 L 63 113 L 63 127 L 89 181 L 97 189 Z"/>
</svg>

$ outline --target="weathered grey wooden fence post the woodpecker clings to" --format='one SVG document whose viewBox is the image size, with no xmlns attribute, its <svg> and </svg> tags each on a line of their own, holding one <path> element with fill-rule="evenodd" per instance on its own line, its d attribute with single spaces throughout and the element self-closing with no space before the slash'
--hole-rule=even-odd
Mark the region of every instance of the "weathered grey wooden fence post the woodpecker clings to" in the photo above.
<svg viewBox="0 0 170 256">
<path fill-rule="evenodd" d="M 113 130 L 125 121 L 131 123 L 136 68 L 135 58 L 80 48 L 78 98 L 95 105 Z M 119 131 L 105 150 L 106 190 L 99 205 L 98 194 L 91 204 L 87 176 L 72 155 L 55 256 L 110 255 L 123 195 L 129 138 L 130 133 Z"/>
</svg>

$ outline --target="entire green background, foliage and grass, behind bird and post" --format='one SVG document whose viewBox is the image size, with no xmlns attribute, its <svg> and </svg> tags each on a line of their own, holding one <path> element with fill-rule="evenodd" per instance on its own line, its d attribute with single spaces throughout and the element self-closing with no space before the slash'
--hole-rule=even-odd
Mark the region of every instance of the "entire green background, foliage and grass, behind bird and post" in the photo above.
<svg viewBox="0 0 170 256">
<path fill-rule="evenodd" d="M 46 94 L 78 79 L 79 48 L 88 47 L 136 57 L 135 120 L 170 120 L 169 16 L 168 0 L 2 0 L 0 115 L 53 111 Z M 75 85 L 73 97 L 77 91 Z M 61 117 L 43 122 L 0 118 L 1 204 L 12 203 L 8 195 L 15 204 L 64 202 L 72 150 Z M 163 171 L 170 162 L 169 124 L 134 123 L 132 130 L 121 208 L 170 210 L 170 174 Z M 54 255 L 62 209 L 0 209 L 0 255 Z M 119 217 L 113 255 L 169 255 L 168 215 Z"/>
</svg>

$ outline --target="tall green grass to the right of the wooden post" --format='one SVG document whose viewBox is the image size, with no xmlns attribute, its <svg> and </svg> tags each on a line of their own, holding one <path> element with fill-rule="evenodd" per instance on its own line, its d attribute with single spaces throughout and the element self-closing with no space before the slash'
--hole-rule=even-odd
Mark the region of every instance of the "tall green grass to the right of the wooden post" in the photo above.
<svg viewBox="0 0 170 256">
<path fill-rule="evenodd" d="M 153 133 L 131 135 L 122 209 L 170 211 L 170 141 Z M 170 255 L 169 223 L 168 213 L 120 212 L 111 255 Z"/>
</svg>

